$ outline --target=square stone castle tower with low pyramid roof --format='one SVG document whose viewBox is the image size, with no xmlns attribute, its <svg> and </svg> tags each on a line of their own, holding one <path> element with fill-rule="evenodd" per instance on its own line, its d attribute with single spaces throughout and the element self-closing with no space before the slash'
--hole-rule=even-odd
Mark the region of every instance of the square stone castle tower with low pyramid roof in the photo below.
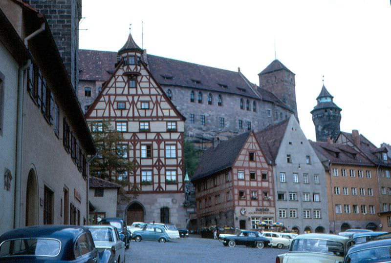
<svg viewBox="0 0 391 263">
<path fill-rule="evenodd" d="M 276 95 L 297 117 L 295 73 L 274 60 L 258 76 L 260 87 Z"/>
</svg>

